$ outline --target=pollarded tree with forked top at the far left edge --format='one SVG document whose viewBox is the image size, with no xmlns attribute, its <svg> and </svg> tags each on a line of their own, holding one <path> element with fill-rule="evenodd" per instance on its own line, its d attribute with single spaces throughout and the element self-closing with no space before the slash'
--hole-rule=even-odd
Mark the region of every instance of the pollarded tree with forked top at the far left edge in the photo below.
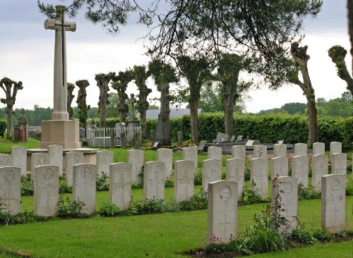
<svg viewBox="0 0 353 258">
<path fill-rule="evenodd" d="M 1 103 L 6 104 L 6 116 L 7 116 L 7 138 L 12 139 L 13 137 L 13 123 L 12 123 L 12 114 L 13 114 L 13 105 L 16 102 L 16 95 L 18 90 L 22 90 L 22 82 L 15 82 L 9 78 L 2 78 L 0 80 L 0 87 L 4 90 L 6 97 L 1 98 Z M 11 93 L 11 88 L 13 91 Z"/>
</svg>

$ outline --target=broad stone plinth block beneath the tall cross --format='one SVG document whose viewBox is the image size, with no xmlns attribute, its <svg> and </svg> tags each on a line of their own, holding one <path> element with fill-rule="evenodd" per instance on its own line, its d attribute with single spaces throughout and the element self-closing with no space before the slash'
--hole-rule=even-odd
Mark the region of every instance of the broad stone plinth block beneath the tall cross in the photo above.
<svg viewBox="0 0 353 258">
<path fill-rule="evenodd" d="M 79 137 L 79 122 L 73 120 L 42 121 L 41 148 L 49 145 L 61 145 L 64 149 L 81 147 Z"/>
</svg>

